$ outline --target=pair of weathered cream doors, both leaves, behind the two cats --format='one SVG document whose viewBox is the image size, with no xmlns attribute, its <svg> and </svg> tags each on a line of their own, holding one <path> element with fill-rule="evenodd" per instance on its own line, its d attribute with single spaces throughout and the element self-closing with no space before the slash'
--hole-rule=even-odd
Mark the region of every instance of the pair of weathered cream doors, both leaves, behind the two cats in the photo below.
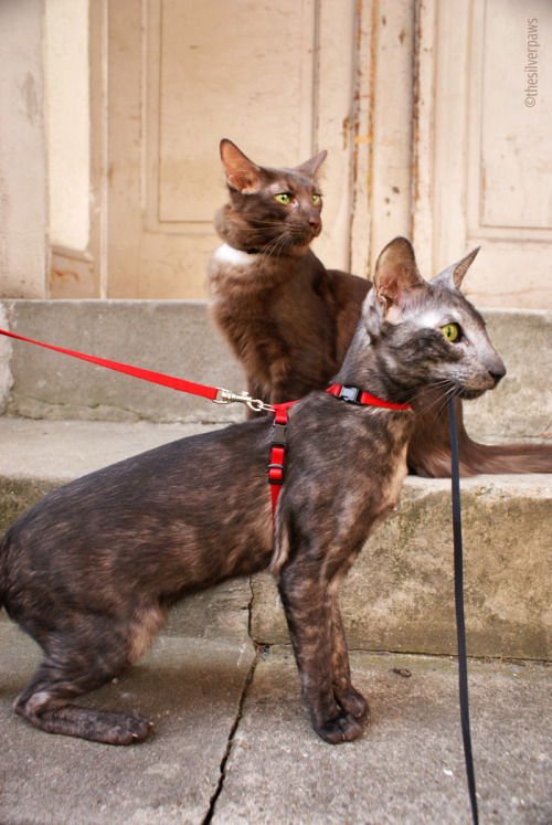
<svg viewBox="0 0 552 825">
<path fill-rule="evenodd" d="M 552 307 L 550 0 L 96 9 L 99 241 L 81 292 L 57 255 L 54 297 L 204 297 L 229 137 L 273 166 L 328 149 L 316 244 L 328 266 L 369 274 L 404 234 L 429 275 L 480 244 L 466 279 L 477 305 Z"/>
</svg>

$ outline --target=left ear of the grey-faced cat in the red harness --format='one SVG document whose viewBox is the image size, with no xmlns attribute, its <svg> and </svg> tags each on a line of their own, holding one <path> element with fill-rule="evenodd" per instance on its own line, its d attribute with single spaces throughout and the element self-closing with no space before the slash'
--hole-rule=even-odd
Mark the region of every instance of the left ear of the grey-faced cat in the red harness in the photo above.
<svg viewBox="0 0 552 825">
<path fill-rule="evenodd" d="M 399 304 L 412 289 L 425 286 L 412 244 L 405 237 L 391 241 L 375 264 L 374 290 L 384 311 Z"/>
</svg>

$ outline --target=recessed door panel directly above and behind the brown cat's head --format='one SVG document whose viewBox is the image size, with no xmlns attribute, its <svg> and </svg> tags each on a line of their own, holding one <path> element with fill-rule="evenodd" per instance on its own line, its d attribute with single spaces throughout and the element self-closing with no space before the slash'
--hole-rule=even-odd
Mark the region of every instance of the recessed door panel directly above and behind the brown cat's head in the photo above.
<svg viewBox="0 0 552 825">
<path fill-rule="evenodd" d="M 252 136 L 253 157 L 275 138 L 293 147 L 297 161 L 312 149 L 314 3 L 162 0 L 152 7 L 149 78 L 157 65 L 160 71 L 157 87 L 149 85 L 149 115 L 159 119 L 149 155 L 149 170 L 158 171 L 148 178 L 157 194 L 151 218 L 187 226 L 210 222 L 213 192 L 205 183 L 215 179 L 213 148 L 219 137 L 234 137 L 236 119 Z"/>
</svg>

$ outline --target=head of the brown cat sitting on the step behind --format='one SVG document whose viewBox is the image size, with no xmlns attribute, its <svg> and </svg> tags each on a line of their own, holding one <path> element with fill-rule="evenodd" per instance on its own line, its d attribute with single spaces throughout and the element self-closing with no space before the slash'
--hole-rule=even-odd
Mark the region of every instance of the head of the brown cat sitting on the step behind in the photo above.
<svg viewBox="0 0 552 825">
<path fill-rule="evenodd" d="M 282 253 L 307 246 L 322 228 L 317 171 L 326 155 L 321 151 L 294 169 L 273 169 L 257 166 L 231 140 L 222 140 L 230 204 L 216 218 L 217 232 L 245 251 Z"/>
</svg>

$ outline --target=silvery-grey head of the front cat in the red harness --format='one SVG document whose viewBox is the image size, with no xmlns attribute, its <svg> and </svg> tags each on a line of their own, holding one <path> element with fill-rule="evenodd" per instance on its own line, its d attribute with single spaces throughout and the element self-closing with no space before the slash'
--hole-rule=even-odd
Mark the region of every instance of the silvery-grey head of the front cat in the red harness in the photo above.
<svg viewBox="0 0 552 825">
<path fill-rule="evenodd" d="M 478 251 L 429 282 L 406 239 L 396 237 L 380 254 L 363 319 L 382 370 L 401 374 L 405 392 L 425 385 L 477 398 L 506 374 L 484 319 L 459 292 Z"/>
</svg>

